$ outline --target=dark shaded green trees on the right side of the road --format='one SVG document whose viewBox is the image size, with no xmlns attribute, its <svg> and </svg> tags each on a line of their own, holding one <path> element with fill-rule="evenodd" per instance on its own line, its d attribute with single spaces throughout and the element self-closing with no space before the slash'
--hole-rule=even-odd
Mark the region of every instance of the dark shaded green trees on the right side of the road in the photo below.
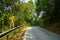
<svg viewBox="0 0 60 40">
<path fill-rule="evenodd" d="M 39 20 L 40 26 L 47 28 L 48 30 L 53 32 L 58 31 L 57 33 L 59 33 L 59 28 L 60 28 L 59 5 L 60 5 L 59 0 L 37 0 L 36 2 L 37 15 L 39 16 L 41 10 L 45 12 Z"/>
</svg>

